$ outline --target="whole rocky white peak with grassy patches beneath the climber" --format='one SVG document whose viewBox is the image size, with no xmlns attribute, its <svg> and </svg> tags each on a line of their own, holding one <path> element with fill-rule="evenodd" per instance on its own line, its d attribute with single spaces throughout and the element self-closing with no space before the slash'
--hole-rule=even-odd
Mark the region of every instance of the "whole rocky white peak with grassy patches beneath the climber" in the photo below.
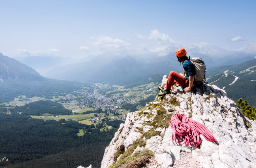
<svg viewBox="0 0 256 168">
<path fill-rule="evenodd" d="M 163 77 L 162 84 L 166 83 Z M 201 145 L 182 146 L 171 141 L 171 115 L 179 110 L 205 125 L 220 145 L 203 139 Z M 156 97 L 140 111 L 129 113 L 105 149 L 101 168 L 113 167 L 254 167 L 256 121 L 244 117 L 223 89 L 203 84 L 184 93 Z"/>
</svg>

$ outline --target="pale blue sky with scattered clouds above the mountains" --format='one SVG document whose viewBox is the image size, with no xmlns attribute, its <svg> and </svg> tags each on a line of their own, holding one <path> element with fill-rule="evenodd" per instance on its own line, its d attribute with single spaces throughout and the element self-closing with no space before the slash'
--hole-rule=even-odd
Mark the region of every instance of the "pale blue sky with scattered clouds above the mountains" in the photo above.
<svg viewBox="0 0 256 168">
<path fill-rule="evenodd" d="M 256 1 L 0 0 L 0 52 L 83 57 L 121 49 L 256 44 Z"/>
</svg>

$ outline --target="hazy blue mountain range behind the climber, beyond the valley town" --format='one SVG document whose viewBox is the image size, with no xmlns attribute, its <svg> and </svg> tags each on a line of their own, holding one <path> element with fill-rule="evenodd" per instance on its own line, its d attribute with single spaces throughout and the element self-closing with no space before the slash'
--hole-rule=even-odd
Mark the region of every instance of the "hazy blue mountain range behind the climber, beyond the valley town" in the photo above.
<svg viewBox="0 0 256 168">
<path fill-rule="evenodd" d="M 256 52 L 249 52 L 249 50 L 228 51 L 217 46 L 202 48 L 190 46 L 186 49 L 188 56 L 202 58 L 207 68 L 235 65 L 254 59 L 256 56 Z M 142 51 L 108 52 L 90 61 L 54 68 L 44 75 L 54 79 L 85 83 L 107 82 L 127 85 L 154 74 L 182 72 L 183 69 L 179 67 L 174 51 L 175 47 L 172 46 L 161 52 L 150 52 L 146 48 Z"/>
</svg>

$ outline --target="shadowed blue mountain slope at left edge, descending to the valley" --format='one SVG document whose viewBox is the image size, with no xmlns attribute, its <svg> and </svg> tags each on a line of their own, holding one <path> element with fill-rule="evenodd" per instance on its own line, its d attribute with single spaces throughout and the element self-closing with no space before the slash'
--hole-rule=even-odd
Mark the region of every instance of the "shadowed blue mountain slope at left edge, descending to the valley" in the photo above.
<svg viewBox="0 0 256 168">
<path fill-rule="evenodd" d="M 0 103 L 12 101 L 20 95 L 26 98 L 59 96 L 80 87 L 81 82 L 45 78 L 34 69 L 0 53 Z"/>
</svg>

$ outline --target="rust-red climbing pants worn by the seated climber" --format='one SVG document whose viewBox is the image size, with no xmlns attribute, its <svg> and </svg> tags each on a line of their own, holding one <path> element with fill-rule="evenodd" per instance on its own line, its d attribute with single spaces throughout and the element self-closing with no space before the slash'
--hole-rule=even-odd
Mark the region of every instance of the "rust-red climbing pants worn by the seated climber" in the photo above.
<svg viewBox="0 0 256 168">
<path fill-rule="evenodd" d="M 166 83 L 166 89 L 171 90 L 171 86 L 175 84 L 179 84 L 181 87 L 185 88 L 189 86 L 189 80 L 186 80 L 177 72 L 171 71 L 168 77 L 168 81 Z"/>
</svg>

